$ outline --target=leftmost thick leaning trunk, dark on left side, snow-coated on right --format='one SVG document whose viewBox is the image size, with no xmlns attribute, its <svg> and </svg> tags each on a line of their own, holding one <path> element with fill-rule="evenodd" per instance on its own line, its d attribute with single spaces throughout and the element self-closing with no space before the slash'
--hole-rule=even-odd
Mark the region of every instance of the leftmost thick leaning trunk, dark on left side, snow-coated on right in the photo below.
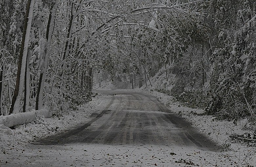
<svg viewBox="0 0 256 167">
<path fill-rule="evenodd" d="M 24 89 L 24 81 L 25 81 L 25 69 L 26 69 L 26 60 L 28 56 L 28 46 L 29 46 L 29 38 L 30 38 L 30 30 L 32 24 L 32 16 L 33 16 L 33 8 L 34 8 L 35 0 L 28 0 L 26 15 L 24 20 L 24 30 L 19 54 L 19 63 L 17 70 L 17 79 L 14 94 L 11 100 L 11 108 L 10 114 L 19 113 L 22 109 L 21 107 L 21 97 Z"/>
</svg>

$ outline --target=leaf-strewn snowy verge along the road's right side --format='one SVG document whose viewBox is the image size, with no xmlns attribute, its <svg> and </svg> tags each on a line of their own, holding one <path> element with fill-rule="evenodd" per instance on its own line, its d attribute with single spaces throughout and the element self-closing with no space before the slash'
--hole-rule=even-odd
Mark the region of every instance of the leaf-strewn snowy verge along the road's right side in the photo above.
<svg viewBox="0 0 256 167">
<path fill-rule="evenodd" d="M 247 137 L 250 134 L 248 130 L 245 130 L 247 119 L 240 120 L 237 124 L 230 121 L 216 121 L 212 116 L 200 115 L 204 112 L 201 109 L 182 106 L 181 103 L 174 101 L 172 96 L 157 91 L 140 91 L 157 97 L 173 113 L 191 122 L 200 133 L 217 142 L 220 148 L 216 154 L 222 158 L 221 161 L 224 164 L 225 162 L 228 163 L 225 165 L 250 166 L 256 164 L 256 147 L 248 147 L 246 143 L 235 142 L 234 140 L 236 137 L 241 137 L 235 134 L 243 134 Z M 231 141 L 230 136 L 233 137 L 233 141 Z M 250 137 L 253 138 L 253 136 Z"/>
</svg>

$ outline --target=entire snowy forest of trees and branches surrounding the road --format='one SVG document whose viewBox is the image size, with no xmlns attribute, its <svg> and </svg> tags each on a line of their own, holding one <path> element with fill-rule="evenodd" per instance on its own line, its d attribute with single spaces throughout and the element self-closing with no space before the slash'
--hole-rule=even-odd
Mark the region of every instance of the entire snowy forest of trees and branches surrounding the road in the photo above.
<svg viewBox="0 0 256 167">
<path fill-rule="evenodd" d="M 61 115 L 109 81 L 256 123 L 254 0 L 1 0 L 0 23 L 1 116 Z"/>
</svg>

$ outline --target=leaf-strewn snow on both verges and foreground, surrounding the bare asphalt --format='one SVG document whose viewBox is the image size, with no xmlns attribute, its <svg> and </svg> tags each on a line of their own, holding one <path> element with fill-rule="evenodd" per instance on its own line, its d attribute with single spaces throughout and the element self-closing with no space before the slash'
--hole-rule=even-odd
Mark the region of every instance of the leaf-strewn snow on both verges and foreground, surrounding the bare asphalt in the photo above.
<svg viewBox="0 0 256 167">
<path fill-rule="evenodd" d="M 157 97 L 170 111 L 217 142 L 221 148 L 204 151 L 190 147 L 168 145 L 102 145 L 69 144 L 63 147 L 34 146 L 34 140 L 65 132 L 74 126 L 90 121 L 90 115 L 103 110 L 111 101 L 98 95 L 93 101 L 63 117 L 41 119 L 14 130 L 0 125 L 0 166 L 237 166 L 253 167 L 256 164 L 256 148 L 232 141 L 229 136 L 248 133 L 247 120 L 237 125 L 228 121 L 216 121 L 212 116 L 200 116 L 203 111 L 182 106 L 173 97 L 149 90 L 126 90 L 151 94 Z M 36 157 L 37 161 L 33 161 Z M 48 162 L 40 160 L 49 157 Z M 61 163 L 59 163 L 61 161 Z"/>
</svg>

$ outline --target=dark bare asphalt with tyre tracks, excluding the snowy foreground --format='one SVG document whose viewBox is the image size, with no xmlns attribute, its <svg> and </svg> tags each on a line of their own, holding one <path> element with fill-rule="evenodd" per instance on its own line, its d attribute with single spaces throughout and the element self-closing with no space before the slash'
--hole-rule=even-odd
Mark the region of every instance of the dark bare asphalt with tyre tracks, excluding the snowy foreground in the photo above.
<svg viewBox="0 0 256 167">
<path fill-rule="evenodd" d="M 200 134 L 188 121 L 173 114 L 154 96 L 120 91 L 99 93 L 113 96 L 112 101 L 105 110 L 92 114 L 91 121 L 34 144 L 154 144 L 196 146 L 202 150 L 217 148 L 216 143 Z"/>
</svg>

